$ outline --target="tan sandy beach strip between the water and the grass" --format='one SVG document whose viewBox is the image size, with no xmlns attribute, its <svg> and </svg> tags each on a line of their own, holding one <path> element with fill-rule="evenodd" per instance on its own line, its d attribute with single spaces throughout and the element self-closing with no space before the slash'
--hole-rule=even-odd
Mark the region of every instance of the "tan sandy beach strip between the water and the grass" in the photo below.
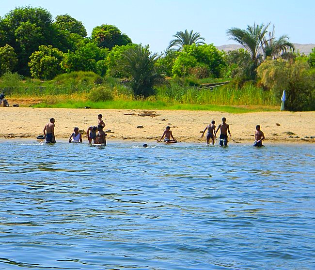
<svg viewBox="0 0 315 270">
<path fill-rule="evenodd" d="M 113 110 L 0 107 L 0 138 L 36 138 L 50 118 L 55 118 L 55 135 L 67 138 L 78 126 L 87 131 L 97 124 L 102 114 L 110 140 L 157 140 L 167 125 L 179 142 L 205 142 L 201 131 L 211 121 L 216 126 L 226 117 L 230 125 L 231 142 L 253 141 L 255 126 L 261 125 L 266 141 L 315 142 L 315 112 L 259 112 L 230 114 L 211 111 L 174 110 Z M 143 126 L 143 128 L 139 128 Z M 110 131 L 109 131 L 110 130 Z M 83 133 L 84 140 L 86 133 Z"/>
</svg>

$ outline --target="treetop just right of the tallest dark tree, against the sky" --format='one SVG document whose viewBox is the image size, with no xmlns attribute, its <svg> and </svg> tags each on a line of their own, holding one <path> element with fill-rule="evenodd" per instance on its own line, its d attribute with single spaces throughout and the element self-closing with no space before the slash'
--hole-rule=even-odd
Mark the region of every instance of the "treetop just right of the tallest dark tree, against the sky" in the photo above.
<svg viewBox="0 0 315 270">
<path fill-rule="evenodd" d="M 54 25 L 60 30 L 66 30 L 70 34 L 77 34 L 81 37 L 86 37 L 87 32 L 82 22 L 76 20 L 68 14 L 56 16 Z"/>
</svg>

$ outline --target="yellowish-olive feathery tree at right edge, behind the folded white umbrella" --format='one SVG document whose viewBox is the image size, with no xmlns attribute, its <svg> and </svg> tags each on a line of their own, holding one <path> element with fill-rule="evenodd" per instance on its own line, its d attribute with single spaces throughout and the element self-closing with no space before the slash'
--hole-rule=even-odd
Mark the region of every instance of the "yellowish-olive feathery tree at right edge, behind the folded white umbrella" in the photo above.
<svg viewBox="0 0 315 270">
<path fill-rule="evenodd" d="M 286 91 L 286 108 L 292 111 L 315 109 L 315 69 L 305 60 L 265 60 L 257 69 L 262 83 L 277 98 Z"/>
</svg>

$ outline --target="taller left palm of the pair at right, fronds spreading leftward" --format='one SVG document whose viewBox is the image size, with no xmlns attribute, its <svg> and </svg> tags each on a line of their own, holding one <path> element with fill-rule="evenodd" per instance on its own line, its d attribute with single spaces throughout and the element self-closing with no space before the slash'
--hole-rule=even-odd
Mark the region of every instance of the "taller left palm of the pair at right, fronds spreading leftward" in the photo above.
<svg viewBox="0 0 315 270">
<path fill-rule="evenodd" d="M 246 30 L 231 28 L 227 30 L 227 35 L 231 40 L 243 45 L 250 53 L 254 64 L 258 66 L 263 58 L 264 37 L 269 25 L 270 23 L 266 26 L 263 23 L 260 25 L 254 23 L 253 26 L 248 25 Z"/>
</svg>

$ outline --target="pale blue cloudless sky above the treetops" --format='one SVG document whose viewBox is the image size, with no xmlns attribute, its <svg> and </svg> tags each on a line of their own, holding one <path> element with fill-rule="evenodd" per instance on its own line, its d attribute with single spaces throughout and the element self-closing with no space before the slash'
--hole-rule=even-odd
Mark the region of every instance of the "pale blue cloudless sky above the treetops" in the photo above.
<svg viewBox="0 0 315 270">
<path fill-rule="evenodd" d="M 194 30 L 214 45 L 235 44 L 226 30 L 248 24 L 276 26 L 276 35 L 287 34 L 293 43 L 315 43 L 314 0 L 6 0 L 0 16 L 15 7 L 47 9 L 53 17 L 69 14 L 81 21 L 91 35 L 101 24 L 116 25 L 134 43 L 164 50 L 172 35 Z"/>
</svg>

